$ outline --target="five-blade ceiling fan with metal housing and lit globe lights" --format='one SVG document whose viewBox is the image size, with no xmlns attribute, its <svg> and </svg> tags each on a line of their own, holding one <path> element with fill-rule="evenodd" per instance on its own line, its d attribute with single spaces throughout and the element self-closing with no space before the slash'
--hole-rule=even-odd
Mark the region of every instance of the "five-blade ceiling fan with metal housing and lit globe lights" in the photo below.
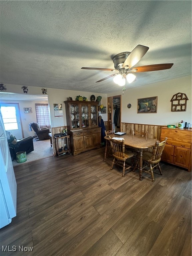
<svg viewBox="0 0 192 256">
<path fill-rule="evenodd" d="M 81 69 L 92 69 L 92 70 L 105 70 L 105 71 L 118 71 L 118 73 L 114 73 L 110 76 L 102 78 L 98 82 L 102 82 L 110 77 L 113 77 L 113 81 L 120 85 L 125 85 L 125 79 L 128 83 L 132 83 L 136 81 L 136 76 L 133 73 L 136 72 L 148 72 L 148 71 L 157 71 L 157 70 L 164 70 L 169 69 L 173 66 L 173 63 L 166 63 L 166 64 L 153 64 L 141 67 L 134 67 L 138 61 L 145 55 L 145 53 L 149 50 L 149 47 L 144 45 L 137 45 L 132 52 L 122 52 L 113 57 L 113 63 L 115 69 L 110 68 L 88 68 L 82 67 Z"/>
</svg>

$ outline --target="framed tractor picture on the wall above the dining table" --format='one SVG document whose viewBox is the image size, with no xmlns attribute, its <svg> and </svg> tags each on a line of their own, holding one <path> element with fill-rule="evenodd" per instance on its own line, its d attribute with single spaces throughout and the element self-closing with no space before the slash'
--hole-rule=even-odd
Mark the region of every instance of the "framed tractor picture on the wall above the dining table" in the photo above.
<svg viewBox="0 0 192 256">
<path fill-rule="evenodd" d="M 137 113 L 157 113 L 157 96 L 137 99 Z"/>
</svg>

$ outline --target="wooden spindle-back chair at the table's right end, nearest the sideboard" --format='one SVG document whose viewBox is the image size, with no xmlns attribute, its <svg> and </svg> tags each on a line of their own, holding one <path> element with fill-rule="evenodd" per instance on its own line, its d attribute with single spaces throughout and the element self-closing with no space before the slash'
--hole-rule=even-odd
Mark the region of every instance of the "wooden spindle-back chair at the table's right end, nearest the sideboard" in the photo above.
<svg viewBox="0 0 192 256">
<path fill-rule="evenodd" d="M 153 153 L 144 151 L 143 152 L 143 167 L 142 171 L 146 173 L 151 174 L 151 179 L 153 182 L 155 182 L 153 169 L 158 167 L 160 174 L 162 175 L 161 167 L 159 165 L 159 162 L 161 161 L 161 155 L 163 152 L 163 149 L 165 147 L 167 141 L 167 137 L 164 141 L 159 142 L 159 140 L 156 141 L 155 146 L 153 147 Z M 137 165 L 139 163 L 139 155 L 137 160 Z"/>
</svg>

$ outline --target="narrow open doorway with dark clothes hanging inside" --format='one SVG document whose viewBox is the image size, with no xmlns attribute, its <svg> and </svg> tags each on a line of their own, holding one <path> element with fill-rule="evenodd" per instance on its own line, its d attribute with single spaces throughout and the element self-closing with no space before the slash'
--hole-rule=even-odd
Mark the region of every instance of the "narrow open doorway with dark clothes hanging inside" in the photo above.
<svg viewBox="0 0 192 256">
<path fill-rule="evenodd" d="M 107 98 L 108 130 L 119 132 L 121 129 L 121 95 Z"/>
</svg>

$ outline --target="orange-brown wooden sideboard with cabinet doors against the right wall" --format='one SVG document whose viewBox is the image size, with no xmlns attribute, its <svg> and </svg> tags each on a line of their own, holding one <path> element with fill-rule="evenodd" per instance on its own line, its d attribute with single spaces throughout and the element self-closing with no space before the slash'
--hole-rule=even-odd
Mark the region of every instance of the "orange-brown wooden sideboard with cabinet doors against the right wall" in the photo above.
<svg viewBox="0 0 192 256">
<path fill-rule="evenodd" d="M 162 161 L 181 166 L 191 172 L 192 129 L 162 127 L 161 139 L 167 137 Z"/>
</svg>

